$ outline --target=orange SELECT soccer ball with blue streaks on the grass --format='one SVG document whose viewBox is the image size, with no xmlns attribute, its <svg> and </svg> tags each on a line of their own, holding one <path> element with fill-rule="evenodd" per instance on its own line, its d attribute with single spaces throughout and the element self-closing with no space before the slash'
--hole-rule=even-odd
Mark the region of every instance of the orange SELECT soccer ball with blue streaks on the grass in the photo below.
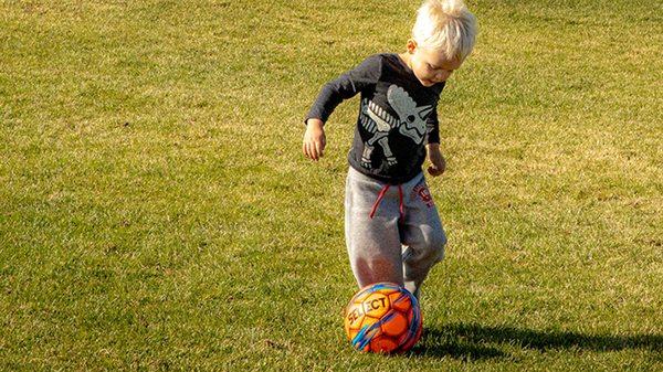
<svg viewBox="0 0 663 372">
<path fill-rule="evenodd" d="M 361 288 L 345 311 L 345 331 L 362 352 L 406 352 L 421 337 L 422 318 L 417 298 L 393 283 Z"/>
</svg>

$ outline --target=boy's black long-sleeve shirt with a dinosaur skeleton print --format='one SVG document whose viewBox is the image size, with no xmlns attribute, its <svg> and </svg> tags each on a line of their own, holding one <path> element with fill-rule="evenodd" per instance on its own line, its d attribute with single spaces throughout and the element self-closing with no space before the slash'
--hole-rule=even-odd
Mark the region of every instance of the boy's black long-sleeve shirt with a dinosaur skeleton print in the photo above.
<svg viewBox="0 0 663 372">
<path fill-rule="evenodd" d="M 439 144 L 438 100 L 444 83 L 423 86 L 398 54 L 375 54 L 327 83 L 306 119 L 326 123 L 336 106 L 361 93 L 348 161 L 382 182 L 404 183 L 419 174 L 425 144 Z"/>
</svg>

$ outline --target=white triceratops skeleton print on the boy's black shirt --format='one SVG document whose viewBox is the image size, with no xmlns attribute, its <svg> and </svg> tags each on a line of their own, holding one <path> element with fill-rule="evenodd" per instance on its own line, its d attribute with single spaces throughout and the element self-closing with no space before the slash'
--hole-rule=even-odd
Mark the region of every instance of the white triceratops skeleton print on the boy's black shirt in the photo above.
<svg viewBox="0 0 663 372">
<path fill-rule="evenodd" d="M 417 106 L 408 92 L 396 84 L 392 84 L 387 91 L 387 100 L 398 114 L 398 118 L 372 100 L 361 99 L 361 126 L 372 134 L 372 137 L 364 144 L 364 153 L 361 155 L 361 166 L 367 169 L 371 169 L 370 156 L 376 142 L 382 148 L 389 166 L 398 162 L 389 148 L 388 136 L 391 129 L 398 128 L 401 135 L 411 138 L 417 145 L 421 145 L 425 135 L 425 119 L 432 110 L 431 105 Z"/>
</svg>

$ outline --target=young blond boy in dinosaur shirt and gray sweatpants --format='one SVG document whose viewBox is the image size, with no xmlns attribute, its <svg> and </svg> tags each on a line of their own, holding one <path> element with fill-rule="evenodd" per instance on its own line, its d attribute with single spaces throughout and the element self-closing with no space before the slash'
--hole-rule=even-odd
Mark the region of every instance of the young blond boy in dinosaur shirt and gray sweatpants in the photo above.
<svg viewBox="0 0 663 372">
<path fill-rule="evenodd" d="M 440 176 L 438 100 L 474 47 L 476 20 L 461 0 L 428 0 L 401 54 L 371 55 L 327 83 L 306 116 L 304 155 L 324 152 L 324 124 L 361 93 L 346 180 L 345 234 L 359 287 L 397 283 L 419 297 L 446 237 L 421 170 Z"/>
</svg>

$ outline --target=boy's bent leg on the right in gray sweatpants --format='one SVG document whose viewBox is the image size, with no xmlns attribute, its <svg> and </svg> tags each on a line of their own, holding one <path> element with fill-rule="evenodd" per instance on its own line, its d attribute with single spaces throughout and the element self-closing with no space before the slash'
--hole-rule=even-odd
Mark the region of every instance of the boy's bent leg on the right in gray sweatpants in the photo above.
<svg viewBox="0 0 663 372">
<path fill-rule="evenodd" d="M 401 225 L 404 285 L 419 297 L 430 269 L 444 258 L 446 235 L 423 176 L 408 187 L 406 221 Z"/>
</svg>

